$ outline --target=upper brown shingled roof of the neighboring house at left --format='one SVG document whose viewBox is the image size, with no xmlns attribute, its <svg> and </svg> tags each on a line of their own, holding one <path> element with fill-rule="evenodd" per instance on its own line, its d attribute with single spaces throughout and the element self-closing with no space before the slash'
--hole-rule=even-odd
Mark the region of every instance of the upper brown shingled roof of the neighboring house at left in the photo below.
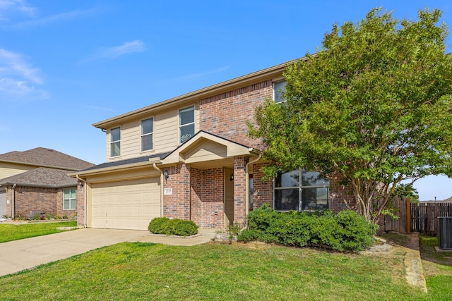
<svg viewBox="0 0 452 301">
<path fill-rule="evenodd" d="M 1 161 L 70 171 L 78 171 L 94 165 L 90 162 L 69 156 L 69 154 L 63 154 L 54 149 L 46 149 L 44 147 L 36 147 L 25 152 L 15 151 L 0 154 Z"/>
</svg>

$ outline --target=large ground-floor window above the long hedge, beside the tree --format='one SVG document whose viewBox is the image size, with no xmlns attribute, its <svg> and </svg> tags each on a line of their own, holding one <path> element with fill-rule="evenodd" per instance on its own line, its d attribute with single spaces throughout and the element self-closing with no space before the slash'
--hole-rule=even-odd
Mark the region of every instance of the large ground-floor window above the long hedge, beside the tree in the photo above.
<svg viewBox="0 0 452 301">
<path fill-rule="evenodd" d="M 327 209 L 329 186 L 329 180 L 316 171 L 279 171 L 274 181 L 274 207 L 281 211 Z"/>
</svg>

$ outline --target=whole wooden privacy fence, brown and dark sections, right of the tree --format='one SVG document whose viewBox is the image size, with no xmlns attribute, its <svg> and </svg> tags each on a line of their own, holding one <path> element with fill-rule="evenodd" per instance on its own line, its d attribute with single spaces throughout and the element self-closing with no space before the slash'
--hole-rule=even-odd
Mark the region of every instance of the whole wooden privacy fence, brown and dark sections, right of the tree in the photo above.
<svg viewBox="0 0 452 301">
<path fill-rule="evenodd" d="M 410 204 L 409 199 L 396 199 L 394 206 L 395 216 L 391 219 L 384 216 L 384 231 L 398 233 L 419 232 L 436 236 L 439 232 L 439 217 L 452 216 L 452 203 L 420 202 Z"/>
</svg>

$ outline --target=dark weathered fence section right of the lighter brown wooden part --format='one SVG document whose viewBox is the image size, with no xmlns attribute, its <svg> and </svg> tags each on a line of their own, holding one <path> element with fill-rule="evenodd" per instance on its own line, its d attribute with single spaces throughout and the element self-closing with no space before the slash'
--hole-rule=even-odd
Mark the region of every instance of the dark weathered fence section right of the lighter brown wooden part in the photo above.
<svg viewBox="0 0 452 301">
<path fill-rule="evenodd" d="M 411 204 L 411 231 L 436 236 L 441 216 L 452 216 L 452 203 Z"/>
</svg>

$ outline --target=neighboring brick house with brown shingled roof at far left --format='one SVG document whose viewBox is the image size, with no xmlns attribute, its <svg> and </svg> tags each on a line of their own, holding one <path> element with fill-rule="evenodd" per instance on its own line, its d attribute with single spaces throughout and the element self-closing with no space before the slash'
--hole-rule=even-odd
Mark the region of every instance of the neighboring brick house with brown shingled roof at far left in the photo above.
<svg viewBox="0 0 452 301">
<path fill-rule="evenodd" d="M 93 165 L 43 147 L 0 154 L 0 218 L 75 215 L 78 181 L 68 173 Z"/>
</svg>

